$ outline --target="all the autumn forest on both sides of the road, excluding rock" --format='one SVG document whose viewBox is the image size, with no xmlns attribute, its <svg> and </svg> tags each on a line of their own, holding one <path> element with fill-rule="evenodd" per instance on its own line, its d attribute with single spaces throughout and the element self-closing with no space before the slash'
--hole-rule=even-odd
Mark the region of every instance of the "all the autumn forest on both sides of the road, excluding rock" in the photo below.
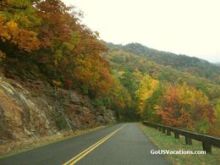
<svg viewBox="0 0 220 165">
<path fill-rule="evenodd" d="M 118 121 L 220 136 L 220 66 L 138 43 L 115 45 L 61 0 L 0 2 L 0 71 L 76 90 Z"/>
</svg>

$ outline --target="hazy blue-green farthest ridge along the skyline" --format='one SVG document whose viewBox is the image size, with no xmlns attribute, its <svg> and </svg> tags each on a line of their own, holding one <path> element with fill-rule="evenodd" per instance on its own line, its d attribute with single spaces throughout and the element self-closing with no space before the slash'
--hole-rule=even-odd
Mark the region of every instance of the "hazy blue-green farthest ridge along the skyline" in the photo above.
<svg viewBox="0 0 220 165">
<path fill-rule="evenodd" d="M 159 51 L 139 43 L 130 43 L 124 46 L 109 44 L 109 47 L 112 49 L 119 48 L 139 56 L 144 56 L 158 64 L 171 66 L 177 70 L 186 71 L 220 83 L 220 67 L 196 57 Z"/>
</svg>

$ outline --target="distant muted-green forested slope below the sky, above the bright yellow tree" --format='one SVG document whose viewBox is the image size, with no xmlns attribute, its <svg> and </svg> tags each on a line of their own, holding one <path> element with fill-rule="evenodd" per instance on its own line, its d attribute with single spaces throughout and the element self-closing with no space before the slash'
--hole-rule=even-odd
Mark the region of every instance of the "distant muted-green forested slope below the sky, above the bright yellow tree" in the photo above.
<svg viewBox="0 0 220 165">
<path fill-rule="evenodd" d="M 136 47 L 132 49 L 134 45 L 136 45 Z M 216 79 L 213 80 L 210 77 L 200 75 L 200 72 L 202 73 L 200 68 L 203 68 L 205 72 L 211 72 L 210 74 L 217 75 L 218 72 L 220 72 L 220 67 L 214 64 L 194 57 L 160 52 L 140 44 L 128 44 L 125 46 L 108 44 L 108 47 L 109 53 L 105 54 L 104 57 L 112 64 L 113 69 L 121 71 L 138 69 L 165 83 L 187 82 L 203 90 L 212 98 L 219 97 L 217 93 L 220 91 L 220 84 L 215 81 Z M 144 54 L 143 52 L 148 52 L 148 54 Z M 157 52 L 160 53 L 157 54 Z M 182 60 L 182 58 L 185 60 Z M 193 60 L 195 63 L 189 62 Z M 171 63 L 172 61 L 176 62 Z M 212 69 L 208 71 L 208 67 Z M 194 70 L 192 70 L 192 68 L 194 68 Z M 208 92 L 210 89 L 212 89 L 212 91 Z M 214 94 L 214 91 L 216 91 L 216 94 Z"/>
</svg>

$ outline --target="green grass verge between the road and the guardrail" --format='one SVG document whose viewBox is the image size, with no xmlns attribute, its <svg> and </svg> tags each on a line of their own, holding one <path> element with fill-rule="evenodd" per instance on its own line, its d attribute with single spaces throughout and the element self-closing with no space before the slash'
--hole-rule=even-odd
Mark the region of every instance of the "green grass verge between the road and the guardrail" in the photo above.
<svg viewBox="0 0 220 165">
<path fill-rule="evenodd" d="M 144 134 L 158 147 L 164 150 L 202 150 L 199 141 L 192 140 L 192 145 L 185 145 L 185 139 L 175 139 L 174 135 L 167 136 L 154 128 L 140 124 Z M 157 155 L 155 155 L 157 156 Z M 212 154 L 206 155 L 165 155 L 174 165 L 218 165 L 220 162 L 220 149 L 212 147 Z"/>
</svg>

